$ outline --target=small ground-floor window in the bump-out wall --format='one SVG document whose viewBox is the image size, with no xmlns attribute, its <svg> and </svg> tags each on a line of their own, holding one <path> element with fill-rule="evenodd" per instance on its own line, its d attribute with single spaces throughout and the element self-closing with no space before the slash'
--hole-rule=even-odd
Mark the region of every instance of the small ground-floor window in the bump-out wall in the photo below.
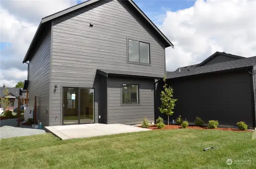
<svg viewBox="0 0 256 169">
<path fill-rule="evenodd" d="M 139 103 L 139 85 L 138 84 L 122 84 L 122 103 L 138 104 Z"/>
</svg>

